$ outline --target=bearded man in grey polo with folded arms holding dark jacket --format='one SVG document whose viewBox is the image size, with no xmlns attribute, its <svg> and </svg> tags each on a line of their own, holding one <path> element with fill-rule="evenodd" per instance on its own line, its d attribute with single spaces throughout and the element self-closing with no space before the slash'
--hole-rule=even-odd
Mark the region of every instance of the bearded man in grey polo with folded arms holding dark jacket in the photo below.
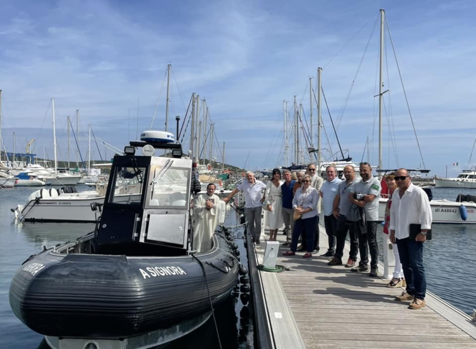
<svg viewBox="0 0 476 349">
<path fill-rule="evenodd" d="M 357 229 L 358 249 L 360 262 L 358 267 L 351 269 L 353 272 L 368 271 L 368 252 L 370 250 L 370 277 L 376 278 L 378 263 L 377 223 L 378 223 L 378 198 L 380 197 L 380 182 L 372 176 L 369 163 L 360 163 L 360 176 L 362 180 L 350 188 L 349 201 L 365 209 L 365 229 Z M 368 243 L 368 248 L 367 248 Z"/>
</svg>

